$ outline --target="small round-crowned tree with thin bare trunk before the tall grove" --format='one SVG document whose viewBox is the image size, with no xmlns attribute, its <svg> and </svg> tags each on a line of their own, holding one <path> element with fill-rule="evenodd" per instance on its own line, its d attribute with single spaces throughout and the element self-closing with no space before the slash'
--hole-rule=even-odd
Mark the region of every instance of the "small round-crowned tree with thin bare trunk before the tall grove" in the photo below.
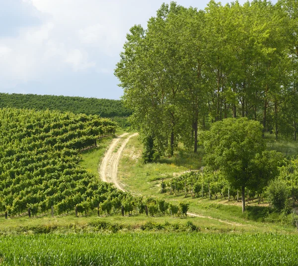
<svg viewBox="0 0 298 266">
<path fill-rule="evenodd" d="M 242 212 L 245 210 L 245 187 L 253 178 L 253 160 L 265 149 L 262 126 L 246 118 L 228 118 L 213 124 L 204 134 L 206 161 L 220 169 L 233 187 L 242 192 Z"/>
</svg>

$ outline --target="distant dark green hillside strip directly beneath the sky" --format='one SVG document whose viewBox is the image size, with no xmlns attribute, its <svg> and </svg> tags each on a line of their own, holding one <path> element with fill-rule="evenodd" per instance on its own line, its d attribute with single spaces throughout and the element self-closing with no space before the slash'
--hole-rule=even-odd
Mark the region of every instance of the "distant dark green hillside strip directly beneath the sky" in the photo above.
<svg viewBox="0 0 298 266">
<path fill-rule="evenodd" d="M 132 113 L 121 100 L 16 93 L 0 93 L 0 108 L 57 110 L 103 118 L 128 117 Z"/>
</svg>

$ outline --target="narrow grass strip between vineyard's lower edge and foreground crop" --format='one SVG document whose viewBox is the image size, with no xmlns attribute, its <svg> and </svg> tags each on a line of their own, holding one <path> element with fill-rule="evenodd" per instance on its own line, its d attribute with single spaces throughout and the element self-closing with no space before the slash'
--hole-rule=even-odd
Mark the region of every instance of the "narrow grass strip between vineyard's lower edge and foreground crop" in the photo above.
<svg viewBox="0 0 298 266">
<path fill-rule="evenodd" d="M 60 233 L 77 233 L 77 232 L 94 232 L 94 224 L 108 223 L 111 227 L 117 226 L 129 231 L 138 231 L 147 224 L 154 227 L 151 230 L 165 230 L 164 225 L 183 227 L 186 223 L 191 222 L 202 232 L 268 232 L 262 229 L 255 231 L 254 227 L 246 225 L 230 225 L 218 220 L 211 220 L 202 217 L 170 217 L 169 215 L 157 215 L 154 217 L 145 214 L 134 214 L 132 216 L 121 216 L 119 213 L 105 216 L 101 214 L 91 213 L 87 216 L 75 217 L 74 212 L 69 214 L 51 217 L 50 213 L 40 215 L 34 218 L 27 216 L 18 216 L 5 220 L 0 219 L 0 235 L 7 234 L 23 234 L 23 233 L 39 233 L 39 232 L 60 232 Z M 109 231 L 109 229 L 107 229 Z M 286 232 L 286 231 L 284 231 Z M 290 232 L 290 231 L 287 231 Z"/>
</svg>

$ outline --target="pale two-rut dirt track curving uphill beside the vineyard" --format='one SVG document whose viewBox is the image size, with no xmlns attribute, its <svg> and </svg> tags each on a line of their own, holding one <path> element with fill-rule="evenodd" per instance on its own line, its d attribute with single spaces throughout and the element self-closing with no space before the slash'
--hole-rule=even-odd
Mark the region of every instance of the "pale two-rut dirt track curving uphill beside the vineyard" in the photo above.
<svg viewBox="0 0 298 266">
<path fill-rule="evenodd" d="M 114 183 L 115 186 L 124 191 L 124 189 L 121 187 L 121 185 L 118 182 L 117 173 L 118 173 L 118 165 L 119 161 L 122 155 L 122 152 L 128 143 L 129 139 L 132 136 L 137 135 L 138 133 L 134 133 L 132 135 L 128 135 L 128 133 L 124 133 L 118 137 L 116 137 L 111 145 L 109 146 L 107 152 L 105 153 L 101 165 L 100 165 L 100 171 L 99 175 L 101 179 L 105 182 L 111 182 Z M 127 136 L 124 140 L 123 137 Z M 123 140 L 123 141 L 122 141 Z M 117 149 L 118 145 L 121 144 L 121 146 Z M 115 150 L 117 151 L 115 152 Z"/>
</svg>

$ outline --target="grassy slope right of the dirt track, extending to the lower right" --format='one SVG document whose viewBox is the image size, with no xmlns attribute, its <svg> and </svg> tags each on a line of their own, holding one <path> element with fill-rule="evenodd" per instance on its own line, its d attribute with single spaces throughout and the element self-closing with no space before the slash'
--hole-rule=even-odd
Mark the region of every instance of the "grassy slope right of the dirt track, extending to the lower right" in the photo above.
<svg viewBox="0 0 298 266">
<path fill-rule="evenodd" d="M 221 223 L 227 222 L 234 225 L 237 224 L 237 226 L 241 224 L 241 228 L 248 226 L 251 232 L 293 232 L 296 230 L 295 227 L 291 225 L 291 221 L 281 223 L 282 217 L 280 215 L 276 217 L 272 216 L 272 219 L 270 219 L 270 212 L 267 207 L 268 203 L 266 202 L 258 205 L 256 201 L 250 201 L 246 203 L 247 211 L 242 214 L 241 202 L 237 202 L 236 200 L 230 200 L 230 202 L 228 202 L 220 198 L 217 200 L 209 200 L 209 198 L 192 199 L 190 196 L 185 198 L 184 193 L 178 196 L 168 193 L 161 194 L 161 179 L 163 178 L 165 181 L 175 174 L 181 174 L 189 170 L 189 160 L 185 158 L 191 155 L 187 155 L 186 151 L 181 150 L 175 154 L 173 158 L 162 159 L 159 163 L 144 164 L 141 158 L 142 148 L 138 137 L 135 136 L 131 138 L 127 148 L 124 150 L 123 157 L 119 164 L 119 178 L 120 182 L 125 184 L 126 190 L 135 194 L 155 196 L 176 203 L 179 201 L 187 201 L 190 204 L 189 211 L 192 213 L 222 220 L 223 222 Z M 201 154 L 202 151 L 200 155 L 196 156 L 200 157 Z M 193 156 L 193 158 L 195 158 L 195 156 Z M 177 161 L 179 163 L 175 163 Z M 202 161 L 197 164 L 197 167 L 201 167 L 201 165 Z M 203 224 L 209 227 L 207 220 L 208 219 L 204 220 Z M 228 225 L 227 223 L 226 225 Z"/>
</svg>

